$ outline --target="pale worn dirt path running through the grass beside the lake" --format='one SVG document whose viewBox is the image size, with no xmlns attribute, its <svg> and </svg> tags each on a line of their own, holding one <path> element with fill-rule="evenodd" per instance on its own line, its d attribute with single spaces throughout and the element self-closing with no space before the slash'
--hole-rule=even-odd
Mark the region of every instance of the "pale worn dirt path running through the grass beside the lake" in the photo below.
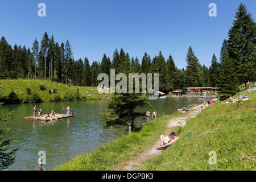
<svg viewBox="0 0 256 182">
<path fill-rule="evenodd" d="M 184 114 L 182 117 L 171 119 L 168 122 L 168 127 L 176 127 L 181 126 L 184 127 L 188 121 L 188 119 L 195 118 L 199 113 L 199 106 L 193 107 L 189 110 L 187 114 Z M 126 162 L 126 165 L 123 166 L 119 164 L 114 170 L 122 170 L 122 171 L 137 171 L 139 170 L 139 166 L 142 166 L 146 160 L 154 158 L 155 156 L 161 154 L 162 150 L 157 150 L 156 147 L 160 146 L 160 139 L 155 141 L 154 146 L 148 146 L 144 151 L 140 152 L 136 156 L 134 156 L 131 160 Z"/>
</svg>

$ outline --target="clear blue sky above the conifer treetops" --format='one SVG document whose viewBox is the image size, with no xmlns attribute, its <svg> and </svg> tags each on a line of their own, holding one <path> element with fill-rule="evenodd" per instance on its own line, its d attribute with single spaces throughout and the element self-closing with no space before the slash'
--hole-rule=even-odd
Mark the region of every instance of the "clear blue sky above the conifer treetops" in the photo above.
<svg viewBox="0 0 256 182">
<path fill-rule="evenodd" d="M 38 16 L 38 4 L 46 4 L 46 17 Z M 209 3 L 216 3 L 217 17 L 210 17 Z M 255 19 L 256 1 L 242 1 Z M 77 60 L 101 61 L 106 53 L 123 48 L 141 61 L 146 51 L 151 58 L 161 50 L 171 54 L 177 68 L 186 66 L 191 46 L 203 65 L 210 65 L 213 53 L 220 55 L 241 1 L 193 0 L 8 0 L 0 2 L 0 36 L 7 42 L 32 47 L 44 32 L 55 41 L 67 39 Z"/>
</svg>

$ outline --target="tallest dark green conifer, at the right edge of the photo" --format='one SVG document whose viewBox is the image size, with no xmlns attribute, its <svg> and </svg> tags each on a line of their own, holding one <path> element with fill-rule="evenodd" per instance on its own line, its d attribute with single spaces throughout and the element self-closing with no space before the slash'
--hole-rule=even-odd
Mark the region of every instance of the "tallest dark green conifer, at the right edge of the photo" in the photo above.
<svg viewBox="0 0 256 182">
<path fill-rule="evenodd" d="M 256 24 L 246 6 L 240 4 L 228 36 L 229 57 L 233 59 L 240 83 L 255 80 Z"/>
</svg>

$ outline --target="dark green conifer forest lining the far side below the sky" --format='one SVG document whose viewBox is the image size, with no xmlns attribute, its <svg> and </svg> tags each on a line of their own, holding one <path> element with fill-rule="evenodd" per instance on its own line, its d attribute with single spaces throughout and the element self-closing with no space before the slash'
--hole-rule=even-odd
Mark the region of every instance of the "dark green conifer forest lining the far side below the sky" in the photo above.
<svg viewBox="0 0 256 182">
<path fill-rule="evenodd" d="M 241 3 L 233 26 L 224 40 L 220 61 L 213 54 L 208 68 L 201 65 L 192 48 L 188 48 L 187 67 L 177 69 L 170 55 L 161 51 L 152 59 L 146 52 L 141 61 L 123 49 L 115 49 L 112 60 L 104 54 L 101 61 L 75 60 L 67 40 L 57 43 L 53 35 L 43 35 L 40 45 L 35 39 L 32 48 L 12 48 L 4 37 L 0 41 L 0 78 L 44 78 L 77 86 L 97 86 L 99 73 L 159 73 L 159 89 L 170 92 L 188 86 L 219 86 L 224 93 L 233 93 L 238 84 L 255 80 L 255 22 Z"/>
</svg>

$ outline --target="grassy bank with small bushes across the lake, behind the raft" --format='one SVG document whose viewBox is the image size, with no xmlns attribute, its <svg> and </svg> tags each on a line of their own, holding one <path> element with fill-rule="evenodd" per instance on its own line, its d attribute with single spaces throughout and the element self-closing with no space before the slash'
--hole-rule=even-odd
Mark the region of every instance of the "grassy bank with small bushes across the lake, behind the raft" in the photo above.
<svg viewBox="0 0 256 182">
<path fill-rule="evenodd" d="M 18 99 L 10 96 L 12 90 Z M 69 86 L 43 79 L 0 80 L 0 93 L 0 102 L 6 103 L 98 100 L 109 95 L 98 93 L 97 87 Z M 88 96 L 90 93 L 94 96 Z"/>
</svg>

